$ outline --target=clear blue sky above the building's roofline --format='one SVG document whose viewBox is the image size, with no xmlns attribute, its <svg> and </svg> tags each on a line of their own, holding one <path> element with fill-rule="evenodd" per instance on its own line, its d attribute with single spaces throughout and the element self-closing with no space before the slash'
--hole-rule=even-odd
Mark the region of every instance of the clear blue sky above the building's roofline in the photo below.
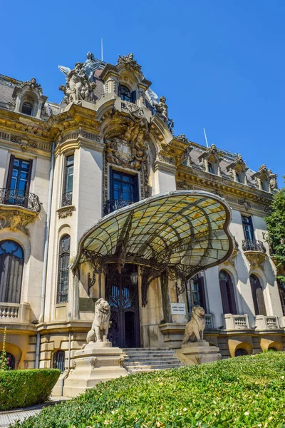
<svg viewBox="0 0 285 428">
<path fill-rule="evenodd" d="M 0 73 L 36 77 L 50 101 L 92 51 L 134 53 L 165 95 L 175 135 L 241 153 L 250 168 L 285 174 L 285 1 L 5 1 Z"/>
</svg>

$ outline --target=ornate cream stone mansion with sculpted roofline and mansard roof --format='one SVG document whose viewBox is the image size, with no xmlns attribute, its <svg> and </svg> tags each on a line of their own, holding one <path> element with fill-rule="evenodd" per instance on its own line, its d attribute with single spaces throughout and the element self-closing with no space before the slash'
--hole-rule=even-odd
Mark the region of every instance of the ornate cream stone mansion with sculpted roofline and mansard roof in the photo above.
<svg viewBox="0 0 285 428">
<path fill-rule="evenodd" d="M 283 350 L 284 304 L 264 223 L 276 175 L 175 136 L 165 97 L 150 90 L 133 54 L 114 66 L 88 53 L 73 70 L 59 68 L 60 104 L 35 78 L 0 76 L 0 332 L 7 326 L 11 365 L 73 367 L 98 297 L 112 302 L 109 338 L 120 347 L 180 347 L 192 307 L 201 305 L 205 337 L 223 357 Z M 212 256 L 225 261 L 206 271 L 197 261 L 192 279 L 167 270 L 172 253 L 155 233 L 155 208 L 146 220 L 141 203 L 118 226 L 123 207 L 175 190 L 204 190 L 232 208 L 231 257 Z M 149 221 L 149 239 L 131 248 L 132 228 Z M 161 250 L 153 250 L 156 240 Z M 148 247 L 147 266 L 140 260 Z"/>
</svg>

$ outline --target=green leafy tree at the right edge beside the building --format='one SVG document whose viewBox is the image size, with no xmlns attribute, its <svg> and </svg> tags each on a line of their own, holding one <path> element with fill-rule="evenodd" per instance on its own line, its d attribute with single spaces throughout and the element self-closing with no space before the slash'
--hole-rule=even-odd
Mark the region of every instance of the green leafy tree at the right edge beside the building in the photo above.
<svg viewBox="0 0 285 428">
<path fill-rule="evenodd" d="M 285 188 L 275 193 L 271 213 L 264 220 L 271 257 L 277 267 L 277 279 L 285 283 Z"/>
</svg>

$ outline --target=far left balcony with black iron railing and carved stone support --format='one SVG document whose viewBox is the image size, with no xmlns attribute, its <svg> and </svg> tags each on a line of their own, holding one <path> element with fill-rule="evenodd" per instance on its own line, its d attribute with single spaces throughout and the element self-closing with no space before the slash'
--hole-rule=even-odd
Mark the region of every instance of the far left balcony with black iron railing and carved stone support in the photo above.
<svg viewBox="0 0 285 428">
<path fill-rule="evenodd" d="M 33 193 L 8 188 L 0 189 L 0 228 L 8 228 L 12 232 L 21 230 L 30 235 L 26 228 L 41 211 L 38 196 Z"/>
</svg>

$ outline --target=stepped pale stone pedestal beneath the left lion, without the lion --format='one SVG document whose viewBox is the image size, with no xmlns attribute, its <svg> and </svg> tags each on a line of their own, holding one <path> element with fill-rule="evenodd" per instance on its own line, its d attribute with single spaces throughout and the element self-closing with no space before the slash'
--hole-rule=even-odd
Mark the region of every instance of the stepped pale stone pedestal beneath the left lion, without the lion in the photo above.
<svg viewBox="0 0 285 428">
<path fill-rule="evenodd" d="M 63 396 L 76 397 L 98 382 L 128 376 L 122 367 L 123 360 L 123 350 L 112 347 L 111 342 L 88 343 L 83 350 L 76 352 L 75 369 L 64 381 Z"/>
</svg>

